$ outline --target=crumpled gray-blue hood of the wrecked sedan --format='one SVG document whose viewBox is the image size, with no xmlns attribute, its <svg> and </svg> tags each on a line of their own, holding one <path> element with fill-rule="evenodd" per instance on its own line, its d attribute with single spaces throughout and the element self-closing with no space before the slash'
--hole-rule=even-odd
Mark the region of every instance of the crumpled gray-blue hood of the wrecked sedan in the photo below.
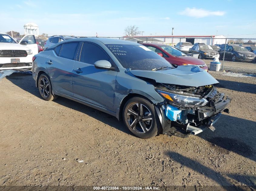
<svg viewBox="0 0 256 191">
<path fill-rule="evenodd" d="M 131 70 L 138 77 L 154 79 L 158 83 L 199 87 L 219 83 L 208 72 L 194 65 L 178 66 L 168 70 Z"/>
</svg>

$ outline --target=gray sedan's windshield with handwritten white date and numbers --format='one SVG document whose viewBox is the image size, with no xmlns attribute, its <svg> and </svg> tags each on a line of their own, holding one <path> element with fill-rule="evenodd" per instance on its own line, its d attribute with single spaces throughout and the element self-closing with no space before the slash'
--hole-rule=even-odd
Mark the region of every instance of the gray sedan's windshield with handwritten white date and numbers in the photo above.
<svg viewBox="0 0 256 191">
<path fill-rule="evenodd" d="M 143 45 L 105 44 L 124 68 L 131 70 L 152 70 L 168 66 L 174 68 L 164 58 Z"/>
</svg>

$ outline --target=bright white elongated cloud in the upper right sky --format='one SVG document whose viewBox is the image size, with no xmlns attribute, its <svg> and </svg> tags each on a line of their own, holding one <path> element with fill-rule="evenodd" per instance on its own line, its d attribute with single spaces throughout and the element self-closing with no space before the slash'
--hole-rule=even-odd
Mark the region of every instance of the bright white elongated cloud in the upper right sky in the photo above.
<svg viewBox="0 0 256 191">
<path fill-rule="evenodd" d="M 223 16 L 225 14 L 224 11 L 209 11 L 204 9 L 197 9 L 197 8 L 185 8 L 184 11 L 181 11 L 179 14 L 186 15 L 188 17 L 195 17 L 195 18 L 203 18 L 208 16 Z"/>
</svg>

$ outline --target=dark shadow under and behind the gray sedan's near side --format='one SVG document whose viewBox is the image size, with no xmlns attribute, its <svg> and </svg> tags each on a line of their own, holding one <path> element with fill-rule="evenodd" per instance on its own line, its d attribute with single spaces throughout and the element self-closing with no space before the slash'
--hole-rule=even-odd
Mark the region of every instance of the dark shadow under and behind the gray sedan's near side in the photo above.
<svg viewBox="0 0 256 191">
<path fill-rule="evenodd" d="M 38 88 L 35 87 L 35 81 L 32 78 L 31 75 L 26 74 L 12 74 L 8 77 L 6 77 L 9 81 L 11 81 L 13 84 L 18 86 L 19 88 L 27 91 L 28 93 L 40 98 L 41 97 Z M 107 113 L 101 112 L 99 110 L 96 110 L 94 108 L 88 107 L 86 105 L 83 105 L 81 103 L 69 100 L 64 97 L 58 97 L 56 100 L 54 100 L 55 103 L 58 103 L 62 106 L 68 107 L 72 110 L 77 110 L 81 113 L 85 113 L 88 116 L 91 116 L 102 123 L 105 123 L 111 127 L 114 127 L 122 132 L 125 132 L 129 135 L 131 135 L 131 132 L 125 127 L 122 121 L 118 121 L 115 116 L 111 116 Z"/>
</svg>

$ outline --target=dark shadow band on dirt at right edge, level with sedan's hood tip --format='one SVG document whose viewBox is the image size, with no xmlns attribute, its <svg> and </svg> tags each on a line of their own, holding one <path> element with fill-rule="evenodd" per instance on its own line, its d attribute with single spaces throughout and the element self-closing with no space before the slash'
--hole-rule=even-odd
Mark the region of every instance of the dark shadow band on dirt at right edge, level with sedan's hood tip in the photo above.
<svg viewBox="0 0 256 191">
<path fill-rule="evenodd" d="M 255 84 L 248 84 L 248 83 L 237 82 L 237 81 L 219 80 L 219 79 L 217 80 L 220 82 L 219 84 L 215 85 L 217 88 L 226 88 L 234 91 L 256 94 Z"/>
</svg>

